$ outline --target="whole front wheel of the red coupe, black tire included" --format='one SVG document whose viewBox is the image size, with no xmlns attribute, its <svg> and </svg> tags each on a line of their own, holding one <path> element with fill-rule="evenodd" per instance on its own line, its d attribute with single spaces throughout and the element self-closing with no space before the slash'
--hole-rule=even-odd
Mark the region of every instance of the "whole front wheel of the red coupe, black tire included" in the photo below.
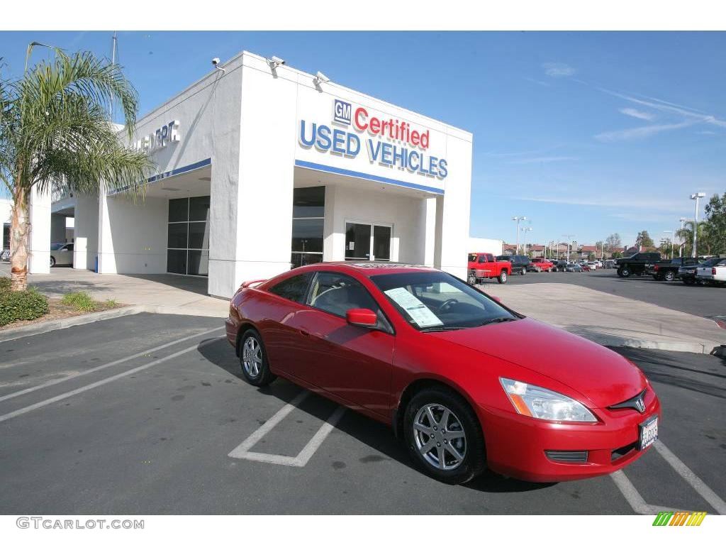
<svg viewBox="0 0 726 545">
<path fill-rule="evenodd" d="M 446 424 L 441 429 L 445 414 Z M 425 431 L 427 427 L 428 432 Z M 449 442 L 446 432 L 448 437 L 452 433 L 459 437 Z M 446 387 L 431 387 L 413 397 L 404 411 L 403 435 L 409 455 L 417 467 L 442 483 L 466 483 L 486 468 L 484 434 L 476 414 L 460 395 Z M 425 450 L 430 444 L 431 448 Z"/>
</svg>

